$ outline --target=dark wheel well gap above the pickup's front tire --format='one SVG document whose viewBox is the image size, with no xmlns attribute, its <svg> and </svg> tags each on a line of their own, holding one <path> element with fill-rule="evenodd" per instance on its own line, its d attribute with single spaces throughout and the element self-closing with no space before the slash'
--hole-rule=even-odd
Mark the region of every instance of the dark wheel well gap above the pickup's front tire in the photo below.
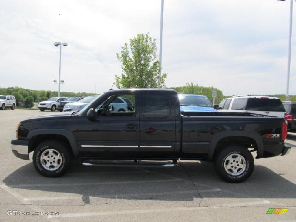
<svg viewBox="0 0 296 222">
<path fill-rule="evenodd" d="M 64 142 L 67 146 L 67 149 L 69 149 L 72 152 L 72 147 L 70 145 L 69 140 L 65 136 L 56 135 L 56 134 L 45 134 L 45 135 L 33 136 L 29 142 L 29 152 L 34 151 L 35 147 L 38 146 L 38 144 L 40 144 L 42 141 L 45 141 L 48 139 L 53 139 L 53 140 L 58 140 L 58 141 Z"/>
</svg>

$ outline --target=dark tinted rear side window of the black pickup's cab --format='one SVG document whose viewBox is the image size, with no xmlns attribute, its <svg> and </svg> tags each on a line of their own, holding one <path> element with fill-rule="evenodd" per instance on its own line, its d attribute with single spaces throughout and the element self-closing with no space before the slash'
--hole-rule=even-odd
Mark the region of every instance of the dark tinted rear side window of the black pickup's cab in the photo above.
<svg viewBox="0 0 296 222">
<path fill-rule="evenodd" d="M 170 101 L 167 94 L 144 94 L 143 116 L 146 118 L 168 118 L 170 116 Z"/>
</svg>

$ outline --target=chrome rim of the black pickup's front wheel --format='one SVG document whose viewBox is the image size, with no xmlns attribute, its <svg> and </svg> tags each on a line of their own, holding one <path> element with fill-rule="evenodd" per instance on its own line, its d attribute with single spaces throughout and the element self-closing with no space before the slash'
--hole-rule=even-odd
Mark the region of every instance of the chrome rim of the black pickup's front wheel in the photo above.
<svg viewBox="0 0 296 222">
<path fill-rule="evenodd" d="M 40 156 L 40 162 L 46 170 L 57 170 L 62 164 L 62 156 L 55 149 L 46 149 Z"/>
</svg>

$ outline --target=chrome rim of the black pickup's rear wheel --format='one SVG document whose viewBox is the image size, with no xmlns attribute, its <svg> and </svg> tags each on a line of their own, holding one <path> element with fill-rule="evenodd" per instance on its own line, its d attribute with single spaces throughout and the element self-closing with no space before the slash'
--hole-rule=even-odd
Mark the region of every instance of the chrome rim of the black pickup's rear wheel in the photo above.
<svg viewBox="0 0 296 222">
<path fill-rule="evenodd" d="M 246 160 L 240 154 L 231 154 L 224 160 L 224 169 L 231 176 L 238 176 L 246 169 Z"/>
</svg>

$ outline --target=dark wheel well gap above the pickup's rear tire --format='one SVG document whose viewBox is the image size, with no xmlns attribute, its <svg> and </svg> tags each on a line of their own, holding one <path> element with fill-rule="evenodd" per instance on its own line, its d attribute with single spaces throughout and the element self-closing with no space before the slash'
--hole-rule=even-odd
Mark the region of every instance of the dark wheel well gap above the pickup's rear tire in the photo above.
<svg viewBox="0 0 296 222">
<path fill-rule="evenodd" d="M 218 153 L 229 146 L 241 146 L 246 149 L 252 148 L 250 152 L 258 151 L 257 143 L 251 137 L 245 136 L 228 136 L 220 139 L 215 147 L 214 157 L 218 155 Z"/>
</svg>

